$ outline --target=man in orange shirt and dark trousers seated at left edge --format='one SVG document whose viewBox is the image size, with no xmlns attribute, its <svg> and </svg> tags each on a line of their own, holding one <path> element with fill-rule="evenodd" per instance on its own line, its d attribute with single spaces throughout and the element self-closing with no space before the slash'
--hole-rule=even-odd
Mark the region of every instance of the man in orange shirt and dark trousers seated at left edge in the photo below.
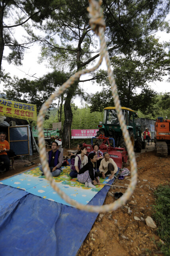
<svg viewBox="0 0 170 256">
<path fill-rule="evenodd" d="M 6 133 L 5 132 L 0 132 L 0 162 L 4 162 L 0 169 L 6 172 L 10 168 L 10 158 L 7 156 L 7 151 L 10 150 L 10 145 L 6 139 Z"/>
</svg>

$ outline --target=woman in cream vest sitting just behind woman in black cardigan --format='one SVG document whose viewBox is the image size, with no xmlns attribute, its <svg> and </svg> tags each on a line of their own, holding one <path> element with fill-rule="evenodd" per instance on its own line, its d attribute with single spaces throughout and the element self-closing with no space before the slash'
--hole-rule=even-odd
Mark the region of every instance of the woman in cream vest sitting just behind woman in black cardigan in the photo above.
<svg viewBox="0 0 170 256">
<path fill-rule="evenodd" d="M 71 166 L 71 172 L 69 176 L 71 178 L 77 178 L 77 174 L 79 173 L 79 170 L 85 166 L 88 162 L 88 158 L 86 156 L 87 154 L 87 148 L 82 147 L 81 150 L 78 152 L 78 154 L 75 156 L 75 162 L 74 162 L 74 167 L 75 170 L 72 169 L 73 166 Z"/>
</svg>

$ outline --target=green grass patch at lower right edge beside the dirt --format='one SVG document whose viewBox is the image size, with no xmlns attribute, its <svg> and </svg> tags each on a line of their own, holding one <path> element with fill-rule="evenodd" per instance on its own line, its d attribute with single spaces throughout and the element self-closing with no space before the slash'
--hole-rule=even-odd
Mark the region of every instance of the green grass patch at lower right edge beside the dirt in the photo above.
<svg viewBox="0 0 170 256">
<path fill-rule="evenodd" d="M 162 242 L 157 246 L 165 256 L 170 255 L 170 185 L 158 186 L 155 191 L 156 202 L 152 206 L 153 218 L 157 224 L 157 232 Z"/>
</svg>

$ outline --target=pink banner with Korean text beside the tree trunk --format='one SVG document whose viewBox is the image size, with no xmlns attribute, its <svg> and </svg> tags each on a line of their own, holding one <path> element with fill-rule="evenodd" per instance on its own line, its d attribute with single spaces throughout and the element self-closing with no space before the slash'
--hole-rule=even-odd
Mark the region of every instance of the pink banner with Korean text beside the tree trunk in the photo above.
<svg viewBox="0 0 170 256">
<path fill-rule="evenodd" d="M 82 130 L 71 130 L 71 138 L 81 139 L 81 138 L 92 138 L 97 135 L 99 129 L 82 129 Z"/>
</svg>

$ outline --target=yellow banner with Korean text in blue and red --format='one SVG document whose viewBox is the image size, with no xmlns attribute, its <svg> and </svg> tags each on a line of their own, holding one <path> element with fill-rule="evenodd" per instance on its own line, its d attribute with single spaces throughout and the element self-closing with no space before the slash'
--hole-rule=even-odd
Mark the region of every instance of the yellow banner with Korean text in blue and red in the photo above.
<svg viewBox="0 0 170 256">
<path fill-rule="evenodd" d="M 0 115 L 36 121 L 37 108 L 34 104 L 0 98 Z"/>
</svg>

